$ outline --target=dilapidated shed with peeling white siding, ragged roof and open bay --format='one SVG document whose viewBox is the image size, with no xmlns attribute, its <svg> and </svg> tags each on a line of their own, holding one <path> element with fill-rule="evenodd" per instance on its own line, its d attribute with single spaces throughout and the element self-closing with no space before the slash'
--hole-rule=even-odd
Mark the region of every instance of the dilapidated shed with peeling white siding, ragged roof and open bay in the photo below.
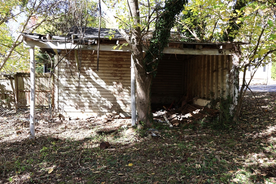
<svg viewBox="0 0 276 184">
<path fill-rule="evenodd" d="M 116 30 L 101 29 L 97 71 L 98 29 L 66 37 L 21 33 L 24 46 L 55 53 L 55 112 L 70 116 L 131 114 L 130 47 Z M 83 36 L 81 40 L 79 37 Z M 236 104 L 237 70 L 234 48 L 241 43 L 186 43 L 171 41 L 164 49 L 151 87 L 151 102 L 167 104 L 197 97 L 197 102 L 231 95 Z M 146 45 L 146 44 L 145 44 Z M 146 48 L 145 48 L 146 49 Z"/>
</svg>

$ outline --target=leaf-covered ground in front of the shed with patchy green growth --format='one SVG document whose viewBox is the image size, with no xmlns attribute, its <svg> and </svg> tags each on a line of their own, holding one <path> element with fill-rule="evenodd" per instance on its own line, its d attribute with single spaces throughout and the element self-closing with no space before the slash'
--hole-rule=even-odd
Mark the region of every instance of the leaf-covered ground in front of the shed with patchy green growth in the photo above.
<svg viewBox="0 0 276 184">
<path fill-rule="evenodd" d="M 152 139 L 106 117 L 41 121 L 30 141 L 28 121 L 0 117 L 0 183 L 275 183 L 276 93 L 255 95 L 264 112 L 247 93 L 238 124 L 158 121 Z"/>
</svg>

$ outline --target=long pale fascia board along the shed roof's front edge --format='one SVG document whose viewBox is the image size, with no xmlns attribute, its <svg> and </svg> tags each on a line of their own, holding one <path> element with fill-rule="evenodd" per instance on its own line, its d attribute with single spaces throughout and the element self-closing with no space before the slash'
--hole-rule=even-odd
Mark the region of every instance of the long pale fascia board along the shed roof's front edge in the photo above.
<svg viewBox="0 0 276 184">
<path fill-rule="evenodd" d="M 78 45 L 72 43 L 43 42 L 43 41 L 23 41 L 24 47 L 34 48 L 52 48 L 60 50 L 82 49 L 98 50 L 98 45 Z M 130 46 L 125 46 L 121 50 L 113 49 L 114 44 L 100 45 L 100 51 L 121 51 L 129 52 Z M 144 49 L 146 50 L 146 49 Z M 192 48 L 164 48 L 165 54 L 188 54 L 188 55 L 234 55 L 231 49 L 192 49 Z"/>
</svg>

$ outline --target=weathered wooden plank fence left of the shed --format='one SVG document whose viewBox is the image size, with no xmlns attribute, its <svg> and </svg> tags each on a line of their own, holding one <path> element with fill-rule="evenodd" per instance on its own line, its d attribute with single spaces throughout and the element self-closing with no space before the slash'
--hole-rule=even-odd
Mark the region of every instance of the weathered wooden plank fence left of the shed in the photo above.
<svg viewBox="0 0 276 184">
<path fill-rule="evenodd" d="M 20 102 L 30 105 L 30 73 L 16 73 L 15 75 L 0 75 L 0 100 L 6 102 Z M 53 75 L 49 73 L 36 74 L 36 106 L 48 106 L 48 99 L 54 105 Z"/>
</svg>

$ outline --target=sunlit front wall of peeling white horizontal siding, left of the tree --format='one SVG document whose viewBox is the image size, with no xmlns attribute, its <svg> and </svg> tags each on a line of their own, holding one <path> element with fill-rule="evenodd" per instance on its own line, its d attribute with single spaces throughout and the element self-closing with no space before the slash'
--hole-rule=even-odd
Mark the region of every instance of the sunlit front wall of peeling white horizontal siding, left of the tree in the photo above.
<svg viewBox="0 0 276 184">
<path fill-rule="evenodd" d="M 74 54 L 59 63 L 56 111 L 70 115 L 130 114 L 130 52 L 100 51 L 99 71 L 97 52 L 92 53 L 78 53 L 82 58 L 80 77 Z"/>
</svg>

